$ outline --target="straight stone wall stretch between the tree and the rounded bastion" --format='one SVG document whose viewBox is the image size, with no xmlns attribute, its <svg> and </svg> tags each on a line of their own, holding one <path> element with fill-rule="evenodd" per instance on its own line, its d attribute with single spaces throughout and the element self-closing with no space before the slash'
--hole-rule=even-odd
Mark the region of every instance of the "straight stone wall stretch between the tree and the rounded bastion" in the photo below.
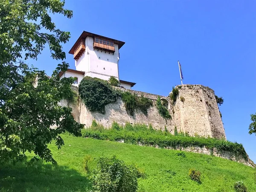
<svg viewBox="0 0 256 192">
<path fill-rule="evenodd" d="M 127 91 L 126 89 L 120 88 L 123 91 Z M 172 119 L 164 119 L 158 113 L 156 107 L 156 100 L 157 95 L 143 93 L 139 91 L 129 90 L 131 93 L 136 93 L 137 96 L 141 96 L 142 94 L 153 101 L 153 106 L 148 109 L 148 115 L 144 115 L 141 111 L 136 111 L 134 116 L 129 115 L 125 110 L 125 105 L 122 102 L 122 99 L 117 99 L 115 103 L 110 103 L 105 107 L 105 114 L 99 112 L 91 112 L 87 110 L 84 105 L 84 102 L 81 101 L 80 103 L 80 123 L 83 123 L 86 127 L 89 127 L 92 124 L 93 119 L 96 122 L 99 122 L 104 127 L 109 128 L 111 127 L 112 123 L 118 122 L 120 125 L 125 125 L 126 122 L 131 124 L 140 123 L 149 126 L 150 124 L 153 128 L 162 129 L 166 128 L 174 134 L 175 123 Z M 168 107 L 169 112 L 172 111 L 172 106 L 169 105 Z"/>
</svg>

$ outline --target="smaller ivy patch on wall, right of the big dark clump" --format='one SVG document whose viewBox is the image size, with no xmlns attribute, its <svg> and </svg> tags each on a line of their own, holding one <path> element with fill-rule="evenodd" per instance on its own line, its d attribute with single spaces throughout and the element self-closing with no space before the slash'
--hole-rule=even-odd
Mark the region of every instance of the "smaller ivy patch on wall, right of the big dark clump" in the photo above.
<svg viewBox="0 0 256 192">
<path fill-rule="evenodd" d="M 125 104 L 125 109 L 130 115 L 134 115 L 135 110 L 142 111 L 145 115 L 148 114 L 148 108 L 153 105 L 153 102 L 145 98 L 143 95 L 138 97 L 135 93 L 128 91 L 122 93 L 122 101 Z"/>
</svg>

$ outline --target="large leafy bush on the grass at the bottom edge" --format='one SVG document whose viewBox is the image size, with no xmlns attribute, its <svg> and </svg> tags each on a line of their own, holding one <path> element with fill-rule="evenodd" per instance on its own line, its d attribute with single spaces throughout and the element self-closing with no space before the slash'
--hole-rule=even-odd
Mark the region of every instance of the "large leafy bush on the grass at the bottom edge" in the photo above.
<svg viewBox="0 0 256 192">
<path fill-rule="evenodd" d="M 136 192 L 138 171 L 115 156 L 101 157 L 93 171 L 94 192 Z"/>
</svg>

